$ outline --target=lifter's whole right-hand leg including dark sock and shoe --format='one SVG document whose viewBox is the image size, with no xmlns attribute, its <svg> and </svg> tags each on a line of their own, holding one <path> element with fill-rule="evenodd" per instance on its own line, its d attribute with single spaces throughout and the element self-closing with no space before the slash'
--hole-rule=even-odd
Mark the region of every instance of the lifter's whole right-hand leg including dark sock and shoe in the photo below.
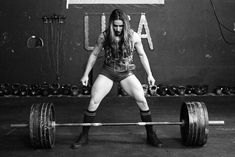
<svg viewBox="0 0 235 157">
<path fill-rule="evenodd" d="M 151 122 L 152 116 L 149 110 L 148 103 L 144 96 L 144 90 L 139 80 L 135 75 L 131 75 L 126 79 L 120 82 L 122 88 L 136 100 L 140 108 L 140 116 L 143 122 Z M 146 133 L 147 133 L 147 142 L 155 147 L 161 147 L 162 142 L 157 138 L 157 135 L 153 129 L 152 125 L 146 125 Z"/>
</svg>

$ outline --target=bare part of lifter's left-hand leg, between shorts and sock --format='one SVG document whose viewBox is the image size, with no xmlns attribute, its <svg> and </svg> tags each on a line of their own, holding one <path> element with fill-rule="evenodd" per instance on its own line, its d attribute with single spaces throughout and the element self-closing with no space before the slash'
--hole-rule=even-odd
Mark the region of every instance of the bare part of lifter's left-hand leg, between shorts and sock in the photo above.
<svg viewBox="0 0 235 157">
<path fill-rule="evenodd" d="M 100 102 L 112 89 L 113 81 L 104 75 L 99 75 L 91 89 L 91 99 L 88 106 L 89 111 L 96 111 Z"/>
</svg>

